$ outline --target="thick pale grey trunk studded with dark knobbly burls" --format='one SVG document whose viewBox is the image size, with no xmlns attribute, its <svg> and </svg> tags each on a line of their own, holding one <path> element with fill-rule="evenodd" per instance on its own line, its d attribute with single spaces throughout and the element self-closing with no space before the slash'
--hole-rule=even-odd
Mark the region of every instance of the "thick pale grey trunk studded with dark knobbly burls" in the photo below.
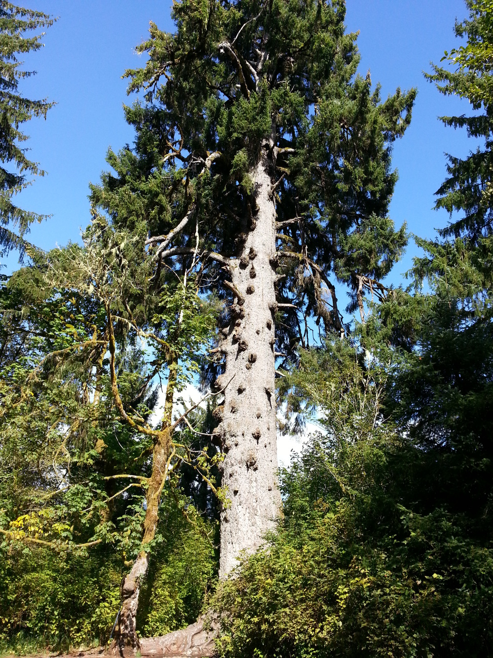
<svg viewBox="0 0 493 658">
<path fill-rule="evenodd" d="M 231 383 L 216 431 L 223 436 L 223 486 L 231 503 L 221 514 L 221 578 L 237 565 L 241 551 L 253 553 L 262 544 L 281 503 L 275 476 L 276 214 L 268 150 L 272 153 L 272 144 L 266 142 L 252 172 L 256 214 L 241 259 L 231 267 L 232 289 L 239 295 L 222 345 L 226 361 L 220 383 Z"/>
</svg>

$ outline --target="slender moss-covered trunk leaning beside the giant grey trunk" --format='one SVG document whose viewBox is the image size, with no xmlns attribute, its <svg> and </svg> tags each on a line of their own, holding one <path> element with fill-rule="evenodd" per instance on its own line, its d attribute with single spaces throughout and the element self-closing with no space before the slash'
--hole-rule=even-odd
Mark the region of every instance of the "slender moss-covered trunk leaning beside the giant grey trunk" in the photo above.
<svg viewBox="0 0 493 658">
<path fill-rule="evenodd" d="M 166 386 L 164 414 L 160 433 L 154 441 L 153 470 L 147 481 L 147 510 L 144 519 L 142 550 L 135 559 L 129 574 L 122 581 L 122 607 L 118 621 L 118 630 L 112 649 L 126 658 L 133 657 L 139 649 L 136 634 L 137 608 L 141 582 L 149 567 L 149 553 L 145 546 L 154 539 L 158 524 L 161 492 L 166 482 L 170 459 L 170 428 L 172 425 L 173 395 L 176 387 L 177 361 L 170 363 L 170 376 Z"/>
</svg>

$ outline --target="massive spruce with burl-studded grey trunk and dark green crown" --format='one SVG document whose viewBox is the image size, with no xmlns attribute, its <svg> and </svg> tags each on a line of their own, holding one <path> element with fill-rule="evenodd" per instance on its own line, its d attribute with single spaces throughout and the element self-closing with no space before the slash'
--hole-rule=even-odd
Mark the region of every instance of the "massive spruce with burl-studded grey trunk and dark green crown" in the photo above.
<svg viewBox="0 0 493 658">
<path fill-rule="evenodd" d="M 149 54 L 127 72 L 145 102 L 126 109 L 135 149 L 110 153 L 116 175 L 93 202 L 139 235 L 153 280 L 175 259 L 196 259 L 204 290 L 225 300 L 216 347 L 218 440 L 225 453 L 220 573 L 273 527 L 277 370 L 296 345 L 344 334 L 337 282 L 349 311 L 398 259 L 405 229 L 388 203 L 391 146 L 404 134 L 415 91 L 381 102 L 356 73 L 356 35 L 342 1 L 183 0 L 176 32 L 151 24 Z M 139 190 L 142 212 L 118 213 L 135 169 L 154 184 L 160 212 Z M 121 206 L 120 206 L 121 208 Z M 282 361 L 281 361 L 282 360 Z"/>
</svg>

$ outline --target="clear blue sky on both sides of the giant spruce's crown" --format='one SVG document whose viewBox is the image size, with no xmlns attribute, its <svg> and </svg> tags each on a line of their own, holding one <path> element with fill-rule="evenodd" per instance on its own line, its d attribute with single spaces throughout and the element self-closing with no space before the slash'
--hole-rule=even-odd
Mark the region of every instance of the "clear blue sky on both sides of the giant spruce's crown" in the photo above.
<svg viewBox="0 0 493 658">
<path fill-rule="evenodd" d="M 37 213 L 52 215 L 34 226 L 30 240 L 43 249 L 80 238 L 89 222 L 89 182 L 97 182 L 106 168 L 108 146 L 120 149 L 133 134 L 125 124 L 122 104 L 126 68 L 145 63 L 134 47 L 145 38 L 149 20 L 172 30 L 168 0 L 26 0 L 33 9 L 59 16 L 43 39 L 45 47 L 29 55 L 27 68 L 37 76 L 22 83 L 32 98 L 57 102 L 47 120 L 26 126 L 31 157 L 47 176 L 23 191 L 18 202 Z M 462 114 L 467 103 L 442 97 L 423 78 L 430 61 L 439 63 L 454 45 L 454 21 L 467 14 L 463 0 L 347 0 L 346 25 L 360 31 L 360 71 L 371 71 L 381 82 L 383 97 L 396 87 L 419 89 L 413 121 L 394 147 L 394 166 L 400 180 L 390 215 L 396 225 L 408 222 L 411 232 L 432 237 L 434 227 L 446 224 L 445 213 L 432 210 L 433 193 L 445 176 L 444 152 L 466 155 L 473 146 L 465 132 L 444 128 L 436 117 Z M 393 280 L 411 265 L 412 243 L 394 270 Z M 15 255 L 3 261 L 3 273 L 17 267 Z"/>
</svg>

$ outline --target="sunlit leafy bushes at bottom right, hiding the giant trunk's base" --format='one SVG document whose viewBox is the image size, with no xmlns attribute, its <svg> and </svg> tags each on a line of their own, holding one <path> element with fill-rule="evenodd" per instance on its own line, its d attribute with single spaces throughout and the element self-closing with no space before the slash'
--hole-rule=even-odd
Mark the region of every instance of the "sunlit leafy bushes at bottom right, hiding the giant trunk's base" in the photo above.
<svg viewBox="0 0 493 658">
<path fill-rule="evenodd" d="M 220 656 L 490 655 L 491 543 L 440 509 L 402 505 L 376 443 L 344 453 L 345 465 L 312 445 L 285 472 L 279 532 L 214 597 Z"/>
</svg>

